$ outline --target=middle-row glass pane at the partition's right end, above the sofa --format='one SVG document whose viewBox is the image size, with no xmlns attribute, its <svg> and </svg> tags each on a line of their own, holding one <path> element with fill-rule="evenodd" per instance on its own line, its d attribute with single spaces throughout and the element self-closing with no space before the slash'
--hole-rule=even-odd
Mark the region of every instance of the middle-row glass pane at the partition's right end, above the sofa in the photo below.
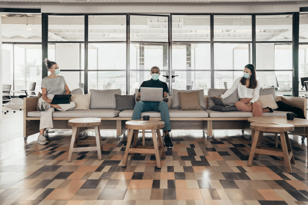
<svg viewBox="0 0 308 205">
<path fill-rule="evenodd" d="M 292 44 L 256 44 L 257 70 L 292 70 L 292 68 Z"/>
</svg>

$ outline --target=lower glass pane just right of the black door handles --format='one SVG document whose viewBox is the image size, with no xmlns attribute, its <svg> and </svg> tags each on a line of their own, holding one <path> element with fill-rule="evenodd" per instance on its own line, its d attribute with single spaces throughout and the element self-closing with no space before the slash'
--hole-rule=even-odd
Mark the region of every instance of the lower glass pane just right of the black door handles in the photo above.
<svg viewBox="0 0 308 205">
<path fill-rule="evenodd" d="M 177 90 L 199 90 L 203 89 L 205 95 L 211 88 L 211 72 L 209 71 L 175 71 L 172 89 Z"/>
</svg>

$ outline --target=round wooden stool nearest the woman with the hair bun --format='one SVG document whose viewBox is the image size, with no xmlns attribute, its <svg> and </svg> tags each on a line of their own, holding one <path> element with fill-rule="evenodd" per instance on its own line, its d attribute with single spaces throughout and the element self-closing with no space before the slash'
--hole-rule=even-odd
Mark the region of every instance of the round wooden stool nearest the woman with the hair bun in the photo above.
<svg viewBox="0 0 308 205">
<path fill-rule="evenodd" d="M 70 150 L 68 152 L 67 161 L 70 162 L 72 160 L 73 152 L 85 152 L 85 151 L 96 151 L 98 154 L 98 159 L 102 159 L 103 147 L 102 140 L 100 138 L 99 126 L 100 126 L 101 118 L 75 118 L 68 121 L 68 126 L 73 127 L 72 139 Z M 96 140 L 84 140 L 78 141 L 78 133 L 79 127 L 94 127 L 95 130 L 95 138 Z M 92 145 L 96 144 L 96 147 L 77 147 L 78 145 Z"/>
</svg>

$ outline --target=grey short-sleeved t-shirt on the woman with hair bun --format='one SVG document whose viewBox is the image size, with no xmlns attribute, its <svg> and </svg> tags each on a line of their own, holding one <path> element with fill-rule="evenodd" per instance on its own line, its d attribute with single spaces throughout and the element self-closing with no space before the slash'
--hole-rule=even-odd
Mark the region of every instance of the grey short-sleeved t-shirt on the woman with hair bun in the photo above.
<svg viewBox="0 0 308 205">
<path fill-rule="evenodd" d="M 63 76 L 58 75 L 56 78 L 43 78 L 41 88 L 47 89 L 47 95 L 63 95 L 66 81 Z"/>
</svg>

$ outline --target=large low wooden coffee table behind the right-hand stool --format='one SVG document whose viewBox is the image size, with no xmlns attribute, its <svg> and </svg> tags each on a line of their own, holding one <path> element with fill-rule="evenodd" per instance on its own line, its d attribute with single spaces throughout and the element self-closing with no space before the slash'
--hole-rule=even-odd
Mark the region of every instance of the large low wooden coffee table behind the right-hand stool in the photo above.
<svg viewBox="0 0 308 205">
<path fill-rule="evenodd" d="M 294 120 L 287 120 L 287 117 L 252 117 L 247 119 L 248 122 L 259 122 L 259 123 L 280 123 L 280 124 L 291 124 L 294 127 L 303 127 L 304 133 L 291 133 L 293 135 L 299 135 L 302 137 L 302 141 L 304 141 L 304 137 L 307 138 L 308 135 L 308 120 L 301 118 L 294 118 Z M 253 137 L 254 130 L 252 131 L 251 136 Z M 307 155 L 308 155 L 308 139 L 307 139 Z"/>
</svg>

